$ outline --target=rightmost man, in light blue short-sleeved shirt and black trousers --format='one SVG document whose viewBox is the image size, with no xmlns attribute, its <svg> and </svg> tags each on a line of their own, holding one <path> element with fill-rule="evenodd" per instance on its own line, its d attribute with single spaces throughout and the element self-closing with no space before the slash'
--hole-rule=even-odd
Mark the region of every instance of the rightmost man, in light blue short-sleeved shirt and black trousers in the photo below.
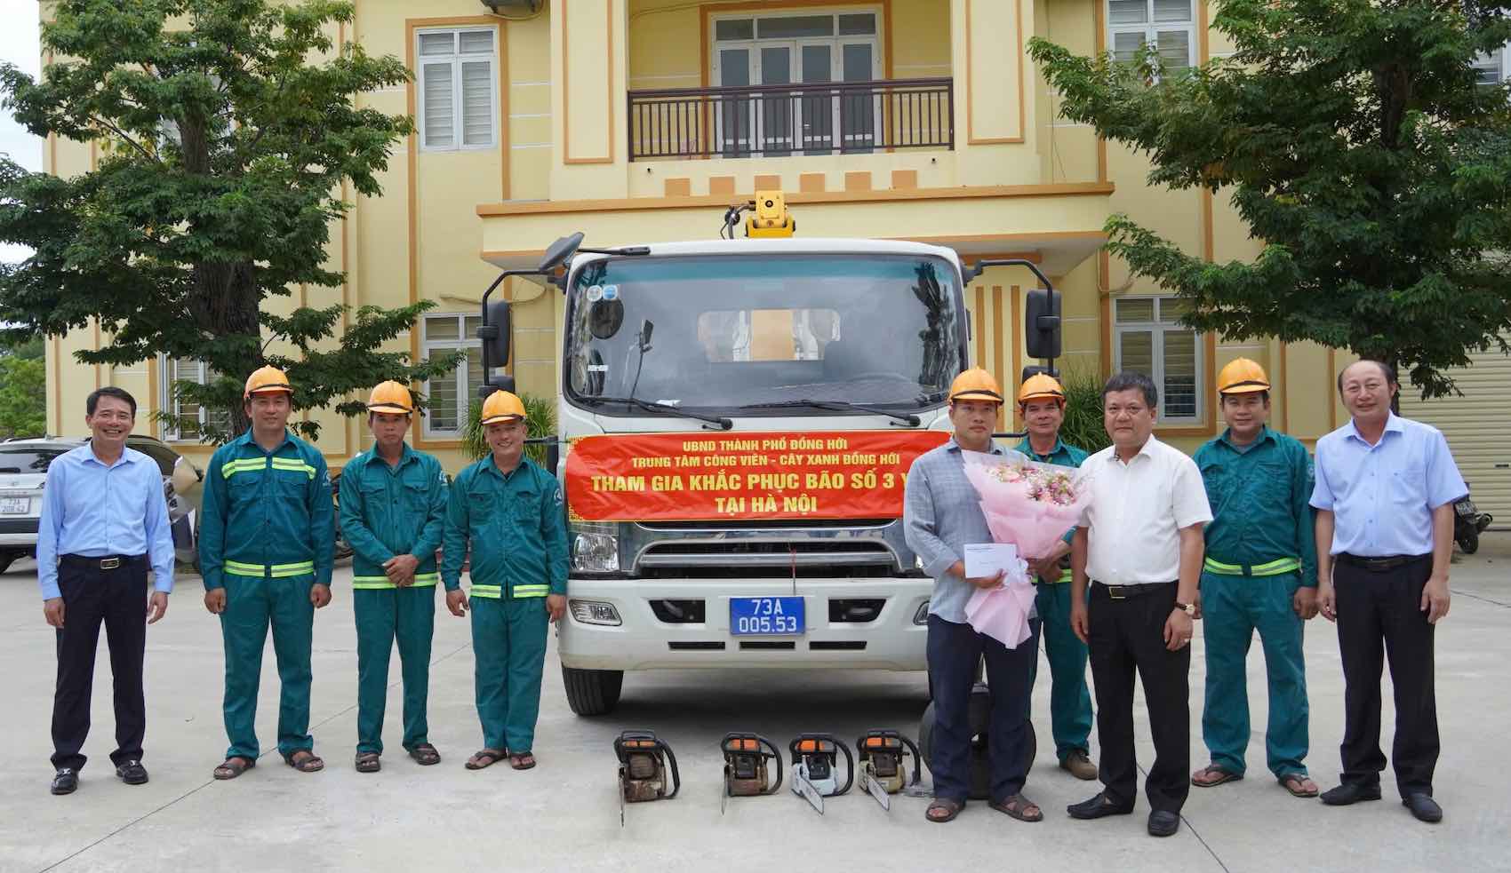
<svg viewBox="0 0 1511 873">
<path fill-rule="evenodd" d="M 1322 802 L 1380 799 L 1380 672 L 1389 651 L 1396 787 L 1413 816 L 1438 822 L 1432 630 L 1448 615 L 1454 501 L 1469 488 L 1441 432 L 1390 411 L 1399 385 L 1389 364 L 1358 361 L 1337 390 L 1352 420 L 1318 440 L 1312 491 L 1318 601 L 1337 622 L 1345 684 L 1342 784 Z"/>
</svg>

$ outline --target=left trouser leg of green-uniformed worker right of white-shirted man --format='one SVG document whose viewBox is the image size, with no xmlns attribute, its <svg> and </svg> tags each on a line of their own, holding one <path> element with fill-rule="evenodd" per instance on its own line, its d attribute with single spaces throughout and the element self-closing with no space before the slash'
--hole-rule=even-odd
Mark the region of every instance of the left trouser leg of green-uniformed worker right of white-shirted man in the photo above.
<svg viewBox="0 0 1511 873">
<path fill-rule="evenodd" d="M 1262 580 L 1201 574 L 1201 640 L 1207 660 L 1206 702 L 1201 707 L 1201 740 L 1212 763 L 1242 775 L 1247 763 L 1248 646 L 1254 624 L 1245 589 Z"/>
</svg>

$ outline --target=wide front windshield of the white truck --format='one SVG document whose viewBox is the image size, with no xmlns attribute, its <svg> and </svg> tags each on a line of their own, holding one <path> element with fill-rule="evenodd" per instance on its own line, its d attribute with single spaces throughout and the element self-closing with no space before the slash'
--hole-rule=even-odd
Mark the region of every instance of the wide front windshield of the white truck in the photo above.
<svg viewBox="0 0 1511 873">
<path fill-rule="evenodd" d="M 928 255 L 613 258 L 568 295 L 565 394 L 598 412 L 642 414 L 610 400 L 627 397 L 742 415 L 790 415 L 793 400 L 923 409 L 964 361 L 955 269 Z"/>
</svg>

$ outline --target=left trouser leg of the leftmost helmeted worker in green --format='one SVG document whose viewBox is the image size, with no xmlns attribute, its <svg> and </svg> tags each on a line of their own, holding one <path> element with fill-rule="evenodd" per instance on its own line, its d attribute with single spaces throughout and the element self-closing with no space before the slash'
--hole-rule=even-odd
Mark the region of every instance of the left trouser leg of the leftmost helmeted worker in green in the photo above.
<svg viewBox="0 0 1511 873">
<path fill-rule="evenodd" d="M 225 757 L 255 761 L 257 686 L 263 675 L 263 648 L 267 643 L 270 597 L 261 578 L 225 574 L 225 610 L 221 612 L 221 640 L 225 645 L 225 696 L 222 717 L 230 746 Z"/>
</svg>

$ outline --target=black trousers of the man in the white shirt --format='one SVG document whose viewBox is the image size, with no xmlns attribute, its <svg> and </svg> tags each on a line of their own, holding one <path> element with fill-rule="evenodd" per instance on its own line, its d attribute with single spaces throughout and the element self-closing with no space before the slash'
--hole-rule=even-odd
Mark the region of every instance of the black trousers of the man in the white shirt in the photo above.
<svg viewBox="0 0 1511 873">
<path fill-rule="evenodd" d="M 1133 751 L 1133 672 L 1144 683 L 1154 766 L 1144 791 L 1154 810 L 1179 813 L 1191 790 L 1191 646 L 1165 648 L 1165 621 L 1176 609 L 1176 583 L 1139 586 L 1114 600 L 1092 583 L 1088 622 L 1091 681 L 1097 689 L 1097 739 L 1102 784 L 1118 804 L 1138 802 L 1138 757 Z"/>
</svg>

